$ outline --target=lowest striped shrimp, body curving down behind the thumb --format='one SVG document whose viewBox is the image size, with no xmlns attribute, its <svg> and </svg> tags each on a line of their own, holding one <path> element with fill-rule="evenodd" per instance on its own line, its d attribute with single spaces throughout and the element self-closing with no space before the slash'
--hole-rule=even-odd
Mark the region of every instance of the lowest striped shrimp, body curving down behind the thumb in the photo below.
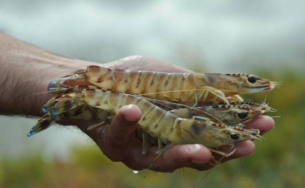
<svg viewBox="0 0 305 188">
<path fill-rule="evenodd" d="M 60 117 L 63 113 L 82 105 L 89 105 L 115 114 L 120 107 L 127 104 L 136 104 L 142 111 L 138 128 L 143 132 L 143 153 L 146 153 L 150 148 L 149 141 L 147 140 L 148 135 L 158 140 L 158 156 L 170 146 L 177 144 L 202 144 L 214 152 L 226 155 L 213 148 L 223 145 L 234 145 L 236 142 L 253 140 L 260 137 L 258 129 L 245 129 L 242 126 L 227 126 L 181 118 L 148 102 L 142 97 L 99 89 L 83 89 L 78 92 L 65 94 L 56 99 L 56 103 L 49 108 L 38 124 L 30 130 L 28 136 L 50 126 L 41 124 L 43 120 L 47 118 L 56 119 L 56 117 Z M 164 148 L 162 148 L 162 143 L 166 145 Z"/>
</svg>

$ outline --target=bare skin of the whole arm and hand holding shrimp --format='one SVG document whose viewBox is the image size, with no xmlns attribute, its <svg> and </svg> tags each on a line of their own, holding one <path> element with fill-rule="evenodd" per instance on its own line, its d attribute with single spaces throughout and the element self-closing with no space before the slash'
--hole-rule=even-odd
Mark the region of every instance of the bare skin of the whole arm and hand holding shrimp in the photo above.
<svg viewBox="0 0 305 188">
<path fill-rule="evenodd" d="M 162 72 L 190 72 L 190 70 L 172 63 L 145 56 L 130 56 L 105 64 L 67 59 L 13 39 L 3 33 L 0 33 L 0 44 L 1 114 L 40 116 L 41 106 L 50 97 L 46 93 L 35 93 L 46 91 L 50 80 L 61 78 L 67 73 L 87 65 Z M 82 83 L 67 82 L 66 84 L 73 86 Z M 157 148 L 154 146 L 147 154 L 142 154 L 142 146 L 138 138 L 134 136 L 134 130 L 140 118 L 141 110 L 136 105 L 127 105 L 116 113 L 106 133 L 102 132 L 103 126 L 87 130 L 87 126 L 94 122 L 65 119 L 60 123 L 78 126 L 110 160 L 120 161 L 127 167 L 141 170 L 149 167 L 156 156 Z M 246 126 L 260 129 L 261 133 L 265 133 L 274 126 L 274 121 L 269 116 L 259 116 L 248 122 Z M 254 152 L 255 145 L 252 141 L 244 141 L 235 144 L 235 148 L 234 154 L 224 158 L 221 162 L 250 155 Z M 223 148 L 224 151 L 227 149 Z M 207 163 L 211 156 L 211 151 L 200 144 L 176 145 L 170 147 L 155 161 L 152 170 L 172 172 L 181 167 L 206 170 L 212 167 Z M 220 157 L 214 156 L 217 159 Z"/>
</svg>

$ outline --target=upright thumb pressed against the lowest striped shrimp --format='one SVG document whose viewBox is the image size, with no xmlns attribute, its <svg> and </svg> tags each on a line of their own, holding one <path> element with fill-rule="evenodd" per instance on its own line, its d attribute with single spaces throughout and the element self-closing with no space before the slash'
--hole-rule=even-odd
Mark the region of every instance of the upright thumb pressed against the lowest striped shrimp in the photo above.
<svg viewBox="0 0 305 188">
<path fill-rule="evenodd" d="M 134 130 L 141 115 L 142 112 L 137 105 L 129 104 L 120 108 L 106 132 L 107 145 L 116 149 L 126 146 L 134 137 Z"/>
</svg>

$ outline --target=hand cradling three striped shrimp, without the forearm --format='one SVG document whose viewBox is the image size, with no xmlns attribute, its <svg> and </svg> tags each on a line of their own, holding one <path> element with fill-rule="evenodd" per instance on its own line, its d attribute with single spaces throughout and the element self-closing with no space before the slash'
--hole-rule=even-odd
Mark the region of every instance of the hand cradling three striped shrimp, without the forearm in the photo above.
<svg viewBox="0 0 305 188">
<path fill-rule="evenodd" d="M 191 72 L 187 69 L 163 62 L 154 58 L 131 56 L 115 62 L 104 64 L 109 68 L 152 70 L 162 72 Z M 78 83 L 70 83 L 77 85 Z M 87 126 L 78 122 L 77 125 L 101 148 L 103 153 L 112 161 L 121 161 L 131 169 L 141 170 L 148 168 L 152 159 L 156 157 L 157 146 L 153 146 L 148 153 L 142 154 L 139 139 L 135 138 L 134 130 L 137 121 L 141 118 L 141 110 L 136 105 L 123 106 L 115 115 L 109 129 L 103 133 L 103 127 L 87 130 Z M 269 131 L 274 126 L 274 121 L 269 116 L 259 116 L 246 124 L 247 128 L 257 128 L 261 133 Z M 221 162 L 250 155 L 255 150 L 252 141 L 235 144 L 236 151 L 230 157 L 225 157 Z M 224 147 L 224 150 L 228 149 Z M 200 144 L 176 145 L 165 151 L 153 164 L 152 170 L 172 172 L 181 167 L 192 167 L 206 170 L 212 166 L 208 164 L 211 151 Z M 215 154 L 216 159 L 221 156 Z"/>
</svg>

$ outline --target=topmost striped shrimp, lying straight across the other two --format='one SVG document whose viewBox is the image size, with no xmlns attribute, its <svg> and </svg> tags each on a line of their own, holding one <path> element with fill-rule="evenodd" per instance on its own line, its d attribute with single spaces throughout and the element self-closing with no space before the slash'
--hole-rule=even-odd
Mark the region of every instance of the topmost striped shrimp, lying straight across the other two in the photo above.
<svg viewBox="0 0 305 188">
<path fill-rule="evenodd" d="M 164 73 L 87 66 L 55 82 L 83 80 L 112 91 L 126 92 L 175 103 L 207 102 L 240 93 L 268 91 L 279 85 L 256 75 Z M 55 88 L 56 90 L 56 88 Z M 53 88 L 49 87 L 49 93 Z"/>
</svg>

